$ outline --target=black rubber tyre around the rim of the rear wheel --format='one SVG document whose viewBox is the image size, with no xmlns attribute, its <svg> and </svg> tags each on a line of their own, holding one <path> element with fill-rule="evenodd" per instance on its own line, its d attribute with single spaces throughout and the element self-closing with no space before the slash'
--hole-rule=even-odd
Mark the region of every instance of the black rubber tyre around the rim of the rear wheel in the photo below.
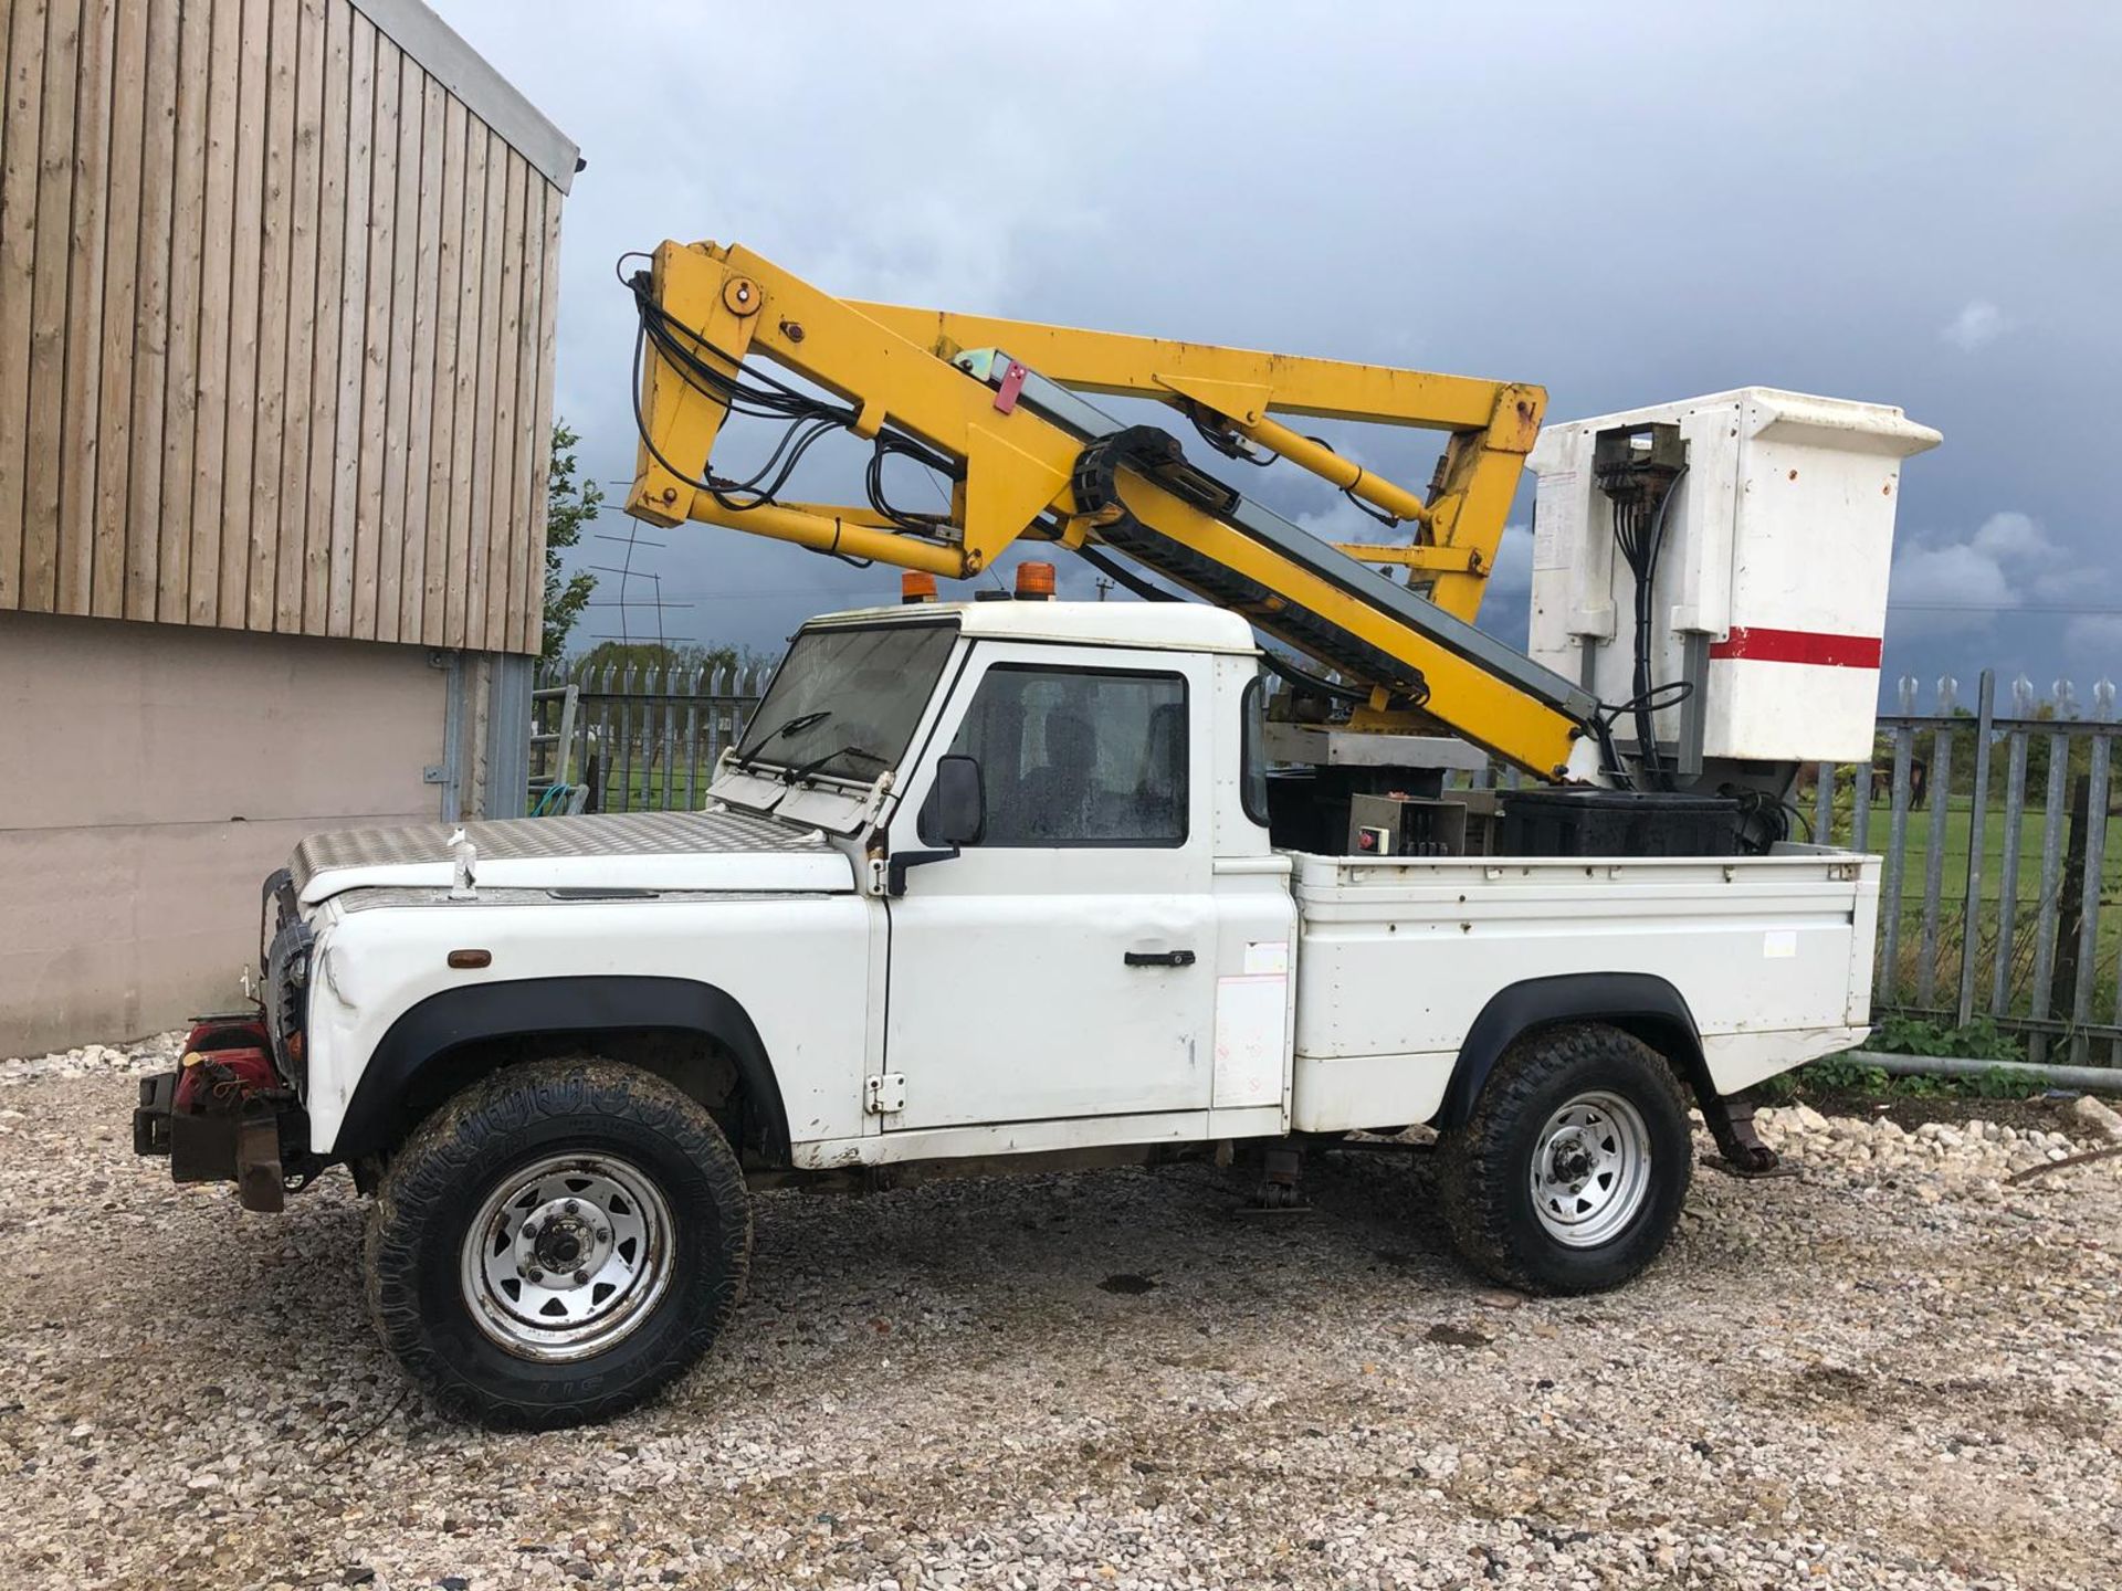
<svg viewBox="0 0 2122 1591">
<path fill-rule="evenodd" d="M 1647 1146 L 1634 1211 L 1583 1247 L 1553 1235 L 1534 1190 L 1549 1124 L 1581 1099 L 1625 1101 Z M 1651 1046 L 1600 1022 L 1517 1039 L 1496 1061 L 1473 1116 L 1439 1146 L 1451 1241 L 1468 1264 L 1524 1292 L 1604 1292 L 1638 1275 L 1672 1237 L 1691 1169 L 1687 1097 L 1672 1067 Z"/>
</svg>

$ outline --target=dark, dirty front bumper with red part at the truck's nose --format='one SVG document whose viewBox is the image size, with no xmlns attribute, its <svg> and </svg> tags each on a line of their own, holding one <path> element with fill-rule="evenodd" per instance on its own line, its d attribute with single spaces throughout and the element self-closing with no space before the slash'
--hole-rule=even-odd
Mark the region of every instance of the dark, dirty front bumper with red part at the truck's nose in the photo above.
<svg viewBox="0 0 2122 1591">
<path fill-rule="evenodd" d="M 284 1209 L 310 1184 L 308 1116 L 257 1016 L 197 1020 L 178 1069 L 140 1080 L 134 1154 L 170 1156 L 176 1182 L 233 1182 L 244 1209 Z"/>
</svg>

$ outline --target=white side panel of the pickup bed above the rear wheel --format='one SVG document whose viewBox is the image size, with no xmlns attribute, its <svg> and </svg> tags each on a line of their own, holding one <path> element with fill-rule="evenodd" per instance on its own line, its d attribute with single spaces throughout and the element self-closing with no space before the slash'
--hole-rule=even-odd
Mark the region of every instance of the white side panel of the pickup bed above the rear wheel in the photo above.
<svg viewBox="0 0 2122 1591">
<path fill-rule="evenodd" d="M 1719 1095 L 1850 1048 L 1867 1025 L 1872 857 L 1299 857 L 1294 891 L 1299 1131 L 1464 1109 L 1477 1090 L 1456 1082 L 1462 1056 L 1481 1065 L 1483 1014 L 1528 982 L 1625 976 L 1628 1008 L 1645 999 L 1634 980 L 1662 982 Z M 1598 1012 L 1541 1020 L 1560 1014 Z"/>
</svg>

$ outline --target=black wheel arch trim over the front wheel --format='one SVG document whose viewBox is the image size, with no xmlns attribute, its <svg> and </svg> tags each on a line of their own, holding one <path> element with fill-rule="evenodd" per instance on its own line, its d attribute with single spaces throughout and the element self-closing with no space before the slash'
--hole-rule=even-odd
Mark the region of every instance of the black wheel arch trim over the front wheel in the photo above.
<svg viewBox="0 0 2122 1591">
<path fill-rule="evenodd" d="M 760 1029 L 743 1003 L 696 978 L 501 978 L 463 984 L 405 1008 L 369 1054 L 340 1120 L 333 1158 L 390 1148 L 412 1084 L 454 1050 L 482 1039 L 541 1033 L 681 1031 L 713 1039 L 736 1065 L 760 1112 L 762 1148 L 787 1156 L 787 1107 Z"/>
</svg>

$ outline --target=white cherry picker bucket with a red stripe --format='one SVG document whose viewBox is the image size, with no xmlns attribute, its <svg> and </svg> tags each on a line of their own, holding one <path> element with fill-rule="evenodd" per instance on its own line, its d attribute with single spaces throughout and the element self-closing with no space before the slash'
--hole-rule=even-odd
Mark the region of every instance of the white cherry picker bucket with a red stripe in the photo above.
<svg viewBox="0 0 2122 1591">
<path fill-rule="evenodd" d="M 1613 450 L 1615 433 L 1649 426 L 1676 426 L 1685 462 L 1651 566 L 1659 747 L 1683 770 L 1863 762 L 1901 460 L 1940 435 L 1882 403 L 1766 386 L 1543 429 L 1528 460 L 1530 651 L 1608 706 L 1636 696 L 1636 577 L 1600 486 L 1600 437 Z M 1632 715 L 1615 736 L 1630 747 Z"/>
</svg>

